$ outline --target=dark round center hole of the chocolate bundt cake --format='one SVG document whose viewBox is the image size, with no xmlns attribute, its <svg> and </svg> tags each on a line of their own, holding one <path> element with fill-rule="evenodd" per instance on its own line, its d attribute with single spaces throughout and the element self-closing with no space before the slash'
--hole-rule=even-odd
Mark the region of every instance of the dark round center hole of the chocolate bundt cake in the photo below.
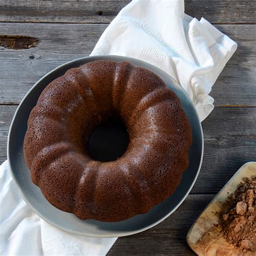
<svg viewBox="0 0 256 256">
<path fill-rule="evenodd" d="M 122 119 L 111 117 L 92 131 L 87 150 L 95 160 L 107 162 L 122 157 L 129 144 L 129 134 Z"/>
</svg>

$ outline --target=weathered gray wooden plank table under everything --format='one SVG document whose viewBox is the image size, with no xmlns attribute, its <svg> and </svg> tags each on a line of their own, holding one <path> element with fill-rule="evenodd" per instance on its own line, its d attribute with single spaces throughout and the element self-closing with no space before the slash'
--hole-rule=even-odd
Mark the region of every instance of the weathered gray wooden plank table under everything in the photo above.
<svg viewBox="0 0 256 256">
<path fill-rule="evenodd" d="M 25 93 L 56 66 L 89 55 L 128 2 L 0 0 L 0 163 L 6 159 L 11 119 Z M 110 255 L 193 254 L 186 245 L 193 221 L 242 164 L 256 160 L 256 2 L 187 0 L 185 9 L 238 43 L 210 93 L 215 109 L 203 122 L 203 166 L 176 212 L 150 230 L 119 238 Z"/>
</svg>

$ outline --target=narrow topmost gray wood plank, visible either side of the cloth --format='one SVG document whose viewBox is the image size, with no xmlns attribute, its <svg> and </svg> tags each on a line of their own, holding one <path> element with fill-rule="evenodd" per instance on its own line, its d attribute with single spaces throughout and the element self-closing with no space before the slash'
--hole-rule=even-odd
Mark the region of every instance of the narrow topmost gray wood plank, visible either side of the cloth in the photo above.
<svg viewBox="0 0 256 256">
<path fill-rule="evenodd" d="M 0 22 L 110 23 L 130 0 L 1 0 Z M 254 1 L 186 0 L 185 12 L 211 23 L 255 23 Z"/>
</svg>

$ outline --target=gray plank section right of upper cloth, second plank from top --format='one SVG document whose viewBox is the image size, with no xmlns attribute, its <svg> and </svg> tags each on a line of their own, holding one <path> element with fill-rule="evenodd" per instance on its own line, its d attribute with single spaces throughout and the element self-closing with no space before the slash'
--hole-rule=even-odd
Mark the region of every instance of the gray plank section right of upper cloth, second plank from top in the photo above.
<svg viewBox="0 0 256 256">
<path fill-rule="evenodd" d="M 210 95 L 214 105 L 256 105 L 256 27 L 217 25 L 238 43 L 238 49 L 220 73 Z M 242 35 L 243 34 L 243 35 Z M 248 42 L 251 42 L 248 44 Z"/>
</svg>

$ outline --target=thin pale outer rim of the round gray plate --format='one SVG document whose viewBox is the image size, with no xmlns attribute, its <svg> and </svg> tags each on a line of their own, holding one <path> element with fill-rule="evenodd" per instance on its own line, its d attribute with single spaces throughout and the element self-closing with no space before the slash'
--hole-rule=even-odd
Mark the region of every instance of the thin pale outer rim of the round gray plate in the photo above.
<svg viewBox="0 0 256 256">
<path fill-rule="evenodd" d="M 137 234 L 137 233 L 140 233 L 140 232 L 143 232 L 143 231 L 146 231 L 146 230 L 149 230 L 150 228 L 158 225 L 159 223 L 161 223 L 162 221 L 164 221 L 166 218 L 168 218 L 174 211 L 177 210 L 177 208 L 184 202 L 184 200 L 187 198 L 188 194 L 190 193 L 190 191 L 192 190 L 194 184 L 196 183 L 197 181 L 197 178 L 199 176 L 199 173 L 200 173 L 200 169 L 201 169 L 201 165 L 203 163 L 203 155 L 204 155 L 204 134 L 203 134 L 203 128 L 201 126 L 201 122 L 200 122 L 200 119 L 199 119 L 199 116 L 198 116 L 198 112 L 196 110 L 196 108 L 194 107 L 194 104 L 192 103 L 193 105 L 193 108 L 196 112 L 196 116 L 197 116 L 197 119 L 199 121 L 199 127 L 200 127 L 200 135 L 201 135 L 201 156 L 200 156 L 200 163 L 199 163 L 199 166 L 198 166 L 198 170 L 197 170 L 197 174 L 196 176 L 194 177 L 194 180 L 193 182 L 191 183 L 191 186 L 188 188 L 186 194 L 184 195 L 184 197 L 179 201 L 179 203 L 169 212 L 167 213 L 163 218 L 160 218 L 158 221 L 152 223 L 151 225 L 147 225 L 143 228 L 140 228 L 139 230 L 135 230 L 135 231 L 124 231 L 122 233 L 110 233 L 110 234 L 91 234 L 91 233 L 86 233 L 85 232 L 78 232 L 78 231 L 74 231 L 74 230 L 70 230 L 68 228 L 65 228 L 63 226 L 60 226 L 56 223 L 54 223 L 53 221 L 51 221 L 49 218 L 45 217 L 45 215 L 41 214 L 39 211 L 36 210 L 35 207 L 33 207 L 33 205 L 30 203 L 30 201 L 28 199 L 26 199 L 26 196 L 24 195 L 23 191 L 22 191 L 22 188 L 19 186 L 18 182 L 17 182 L 17 179 L 15 177 L 15 174 L 14 174 L 14 171 L 12 170 L 12 166 L 11 166 L 11 162 L 10 162 L 10 134 L 11 134 L 11 130 L 12 130 L 12 127 L 14 126 L 14 120 L 16 119 L 16 116 L 18 114 L 18 111 L 19 109 L 21 108 L 23 102 L 25 101 L 25 99 L 30 95 L 31 91 L 33 89 L 35 89 L 35 87 L 43 80 L 45 79 L 46 77 L 50 76 L 51 73 L 59 70 L 59 69 L 62 69 L 63 66 L 65 65 L 69 65 L 69 64 L 72 64 L 72 63 L 76 63 L 76 62 L 79 62 L 79 60 L 84 60 L 84 59 L 91 59 L 90 61 L 94 61 L 94 60 L 100 60 L 100 58 L 103 58 L 103 59 L 107 59 L 107 58 L 115 58 L 117 59 L 116 61 L 127 61 L 129 62 L 129 59 L 131 60 L 134 60 L 134 61 L 137 61 L 137 62 L 141 62 L 141 63 L 144 63 L 148 66 L 151 66 L 152 68 L 154 69 L 157 69 L 161 72 L 164 72 L 171 80 L 173 83 L 179 85 L 179 83 L 176 82 L 176 80 L 174 80 L 168 73 L 166 73 L 165 71 L 157 68 L 156 66 L 150 64 L 150 63 L 147 63 L 145 62 L 144 60 L 140 60 L 140 59 L 137 59 L 137 58 L 131 58 L 131 57 L 126 57 L 126 56 L 117 56 L 117 55 L 97 55 L 97 56 L 85 56 L 85 57 L 81 57 L 81 58 L 76 58 L 76 59 L 73 59 L 73 60 L 70 60 L 69 62 L 65 62 L 59 66 L 57 66 L 55 69 L 52 69 L 51 71 L 49 71 L 48 73 L 46 73 L 42 78 L 40 78 L 39 80 L 37 80 L 37 82 L 30 88 L 30 90 L 26 93 L 26 95 L 23 97 L 23 99 L 21 100 L 21 102 L 19 103 L 16 111 L 15 111 L 15 114 L 14 114 L 14 117 L 12 118 L 12 122 L 11 122 L 11 125 L 10 125 L 10 129 L 9 129 L 9 133 L 8 133 L 8 145 L 7 145 L 7 157 L 8 157 L 8 166 L 9 166 L 9 170 L 10 170 L 10 173 L 11 173 L 11 177 L 12 177 L 12 180 L 14 180 L 14 183 L 15 185 L 18 187 L 18 190 L 19 190 L 19 193 L 21 194 L 23 200 L 25 201 L 26 204 L 29 205 L 29 207 L 31 208 L 31 210 L 36 213 L 40 218 L 42 218 L 44 221 L 46 221 L 47 223 L 51 224 L 52 226 L 55 226 L 57 228 L 59 228 L 60 230 L 63 230 L 63 231 L 66 231 L 68 233 L 73 233 L 73 234 L 76 234 L 76 235 L 82 235 L 82 236 L 85 236 L 85 237 L 95 237 L 95 238 L 114 238 L 114 237 L 125 237 L 127 235 L 132 235 L 132 234 Z M 126 59 L 126 60 L 125 60 Z M 112 59 L 110 59 L 112 60 Z M 115 60 L 112 60 L 112 61 L 115 61 Z M 87 63 L 87 62 L 86 62 Z M 153 71 L 152 71 L 153 72 Z M 159 75 L 158 75 L 159 76 Z M 190 99 L 190 97 L 188 96 L 187 92 L 183 89 L 183 87 L 181 85 L 179 85 L 179 87 L 181 88 L 181 90 L 183 90 L 183 92 L 186 93 L 187 97 Z M 191 99 L 190 99 L 191 101 Z M 61 210 L 60 210 L 61 211 Z"/>
</svg>

